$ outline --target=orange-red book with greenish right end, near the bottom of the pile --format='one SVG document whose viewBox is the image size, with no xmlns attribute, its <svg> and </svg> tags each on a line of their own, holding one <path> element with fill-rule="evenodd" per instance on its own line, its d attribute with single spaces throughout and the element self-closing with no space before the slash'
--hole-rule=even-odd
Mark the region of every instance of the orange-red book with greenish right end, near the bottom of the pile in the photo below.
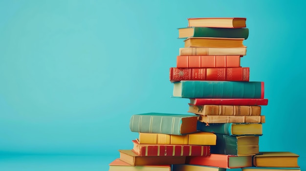
<svg viewBox="0 0 306 171">
<path fill-rule="evenodd" d="M 238 156 L 226 154 L 210 154 L 209 156 L 186 157 L 186 164 L 213 166 L 219 168 L 244 168 L 252 167 L 252 155 Z"/>
</svg>

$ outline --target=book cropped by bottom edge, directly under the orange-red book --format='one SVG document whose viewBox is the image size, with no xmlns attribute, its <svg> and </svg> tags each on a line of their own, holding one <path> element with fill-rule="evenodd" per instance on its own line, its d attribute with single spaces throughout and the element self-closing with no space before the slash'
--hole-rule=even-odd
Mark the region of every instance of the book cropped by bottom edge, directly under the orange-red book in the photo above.
<svg viewBox="0 0 306 171">
<path fill-rule="evenodd" d="M 226 171 L 226 169 L 211 166 L 181 164 L 173 165 L 172 171 Z"/>
</svg>

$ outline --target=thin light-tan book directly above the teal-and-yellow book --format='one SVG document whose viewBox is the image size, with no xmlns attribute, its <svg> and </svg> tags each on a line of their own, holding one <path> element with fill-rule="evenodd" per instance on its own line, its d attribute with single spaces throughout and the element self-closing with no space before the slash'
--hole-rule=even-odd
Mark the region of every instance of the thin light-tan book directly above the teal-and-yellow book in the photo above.
<svg viewBox="0 0 306 171">
<path fill-rule="evenodd" d="M 228 116 L 228 115 L 200 115 L 200 122 L 209 123 L 264 123 L 265 117 L 261 116 Z"/>
</svg>

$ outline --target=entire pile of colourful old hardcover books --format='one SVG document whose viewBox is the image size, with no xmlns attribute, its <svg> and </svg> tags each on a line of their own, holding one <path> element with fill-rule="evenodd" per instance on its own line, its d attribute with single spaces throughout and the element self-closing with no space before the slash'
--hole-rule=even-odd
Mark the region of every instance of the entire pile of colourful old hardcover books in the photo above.
<svg viewBox="0 0 306 171">
<path fill-rule="evenodd" d="M 190 18 L 179 28 L 173 97 L 189 98 L 191 114 L 134 114 L 139 133 L 132 149 L 119 150 L 109 171 L 297 171 L 299 155 L 260 152 L 264 83 L 249 81 L 240 66 L 248 38 L 245 18 Z"/>
</svg>

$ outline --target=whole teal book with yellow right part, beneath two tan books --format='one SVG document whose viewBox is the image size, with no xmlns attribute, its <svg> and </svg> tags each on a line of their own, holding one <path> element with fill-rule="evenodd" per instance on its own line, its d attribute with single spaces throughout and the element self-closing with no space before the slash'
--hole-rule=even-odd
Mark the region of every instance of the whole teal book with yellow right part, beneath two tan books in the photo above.
<svg viewBox="0 0 306 171">
<path fill-rule="evenodd" d="M 197 123 L 197 130 L 207 133 L 220 133 L 231 136 L 262 135 L 261 123 Z"/>
</svg>

